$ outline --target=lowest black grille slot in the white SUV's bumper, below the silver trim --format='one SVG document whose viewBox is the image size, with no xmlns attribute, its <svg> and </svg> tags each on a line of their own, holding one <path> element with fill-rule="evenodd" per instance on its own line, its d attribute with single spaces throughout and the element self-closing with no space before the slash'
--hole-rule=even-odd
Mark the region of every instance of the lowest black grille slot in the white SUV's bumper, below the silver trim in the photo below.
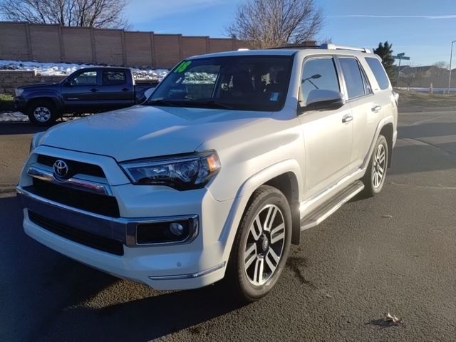
<svg viewBox="0 0 456 342">
<path fill-rule="evenodd" d="M 64 237 L 65 239 L 78 242 L 78 244 L 83 244 L 87 247 L 99 249 L 100 251 L 108 252 L 110 254 L 123 255 L 123 244 L 118 240 L 83 232 L 80 229 L 53 221 L 52 219 L 43 217 L 40 214 L 36 214 L 36 212 L 31 212 L 30 210 L 28 210 L 28 218 L 34 224 L 37 224 L 49 232 L 53 232 L 54 234 Z"/>
</svg>

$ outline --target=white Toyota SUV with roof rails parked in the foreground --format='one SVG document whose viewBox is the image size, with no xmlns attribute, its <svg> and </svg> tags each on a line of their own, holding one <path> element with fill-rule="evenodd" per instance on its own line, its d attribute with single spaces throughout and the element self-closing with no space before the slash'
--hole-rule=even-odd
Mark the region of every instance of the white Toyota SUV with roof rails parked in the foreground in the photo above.
<svg viewBox="0 0 456 342">
<path fill-rule="evenodd" d="M 155 289 L 225 277 L 253 301 L 303 229 L 380 192 L 397 118 L 365 49 L 188 58 L 143 105 L 34 135 L 17 188 L 24 229 Z"/>
</svg>

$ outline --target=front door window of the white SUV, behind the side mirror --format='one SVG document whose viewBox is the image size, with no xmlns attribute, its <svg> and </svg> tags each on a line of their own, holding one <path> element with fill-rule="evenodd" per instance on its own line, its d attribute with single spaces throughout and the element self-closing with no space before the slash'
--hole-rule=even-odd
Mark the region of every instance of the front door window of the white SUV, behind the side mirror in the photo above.
<svg viewBox="0 0 456 342">
<path fill-rule="evenodd" d="M 341 91 L 333 58 L 316 58 L 306 61 L 301 78 L 301 92 L 304 103 L 314 89 Z"/>
</svg>

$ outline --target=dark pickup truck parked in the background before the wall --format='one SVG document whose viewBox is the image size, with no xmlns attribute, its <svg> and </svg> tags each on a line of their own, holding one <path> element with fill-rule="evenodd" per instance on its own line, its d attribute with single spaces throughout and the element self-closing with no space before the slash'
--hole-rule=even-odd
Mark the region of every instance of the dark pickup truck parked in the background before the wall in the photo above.
<svg viewBox="0 0 456 342">
<path fill-rule="evenodd" d="M 16 110 L 36 125 L 51 125 L 64 113 L 99 113 L 145 100 L 157 81 L 135 84 L 130 68 L 82 68 L 60 83 L 39 83 L 16 89 Z"/>
</svg>

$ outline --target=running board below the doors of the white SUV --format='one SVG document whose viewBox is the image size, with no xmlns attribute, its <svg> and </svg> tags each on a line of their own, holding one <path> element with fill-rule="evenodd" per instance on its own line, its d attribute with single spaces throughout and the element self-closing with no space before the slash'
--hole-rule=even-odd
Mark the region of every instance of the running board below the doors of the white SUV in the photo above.
<svg viewBox="0 0 456 342">
<path fill-rule="evenodd" d="M 318 207 L 314 209 L 313 212 L 307 214 L 306 217 L 301 220 L 301 231 L 315 227 L 323 222 L 323 220 L 327 219 L 329 215 L 336 212 L 337 209 L 342 207 L 343 204 L 355 197 L 363 189 L 364 185 L 361 180 L 357 180 L 356 182 L 351 183 L 351 185 L 348 185 L 348 187 L 339 192 L 321 207 Z"/>
</svg>

